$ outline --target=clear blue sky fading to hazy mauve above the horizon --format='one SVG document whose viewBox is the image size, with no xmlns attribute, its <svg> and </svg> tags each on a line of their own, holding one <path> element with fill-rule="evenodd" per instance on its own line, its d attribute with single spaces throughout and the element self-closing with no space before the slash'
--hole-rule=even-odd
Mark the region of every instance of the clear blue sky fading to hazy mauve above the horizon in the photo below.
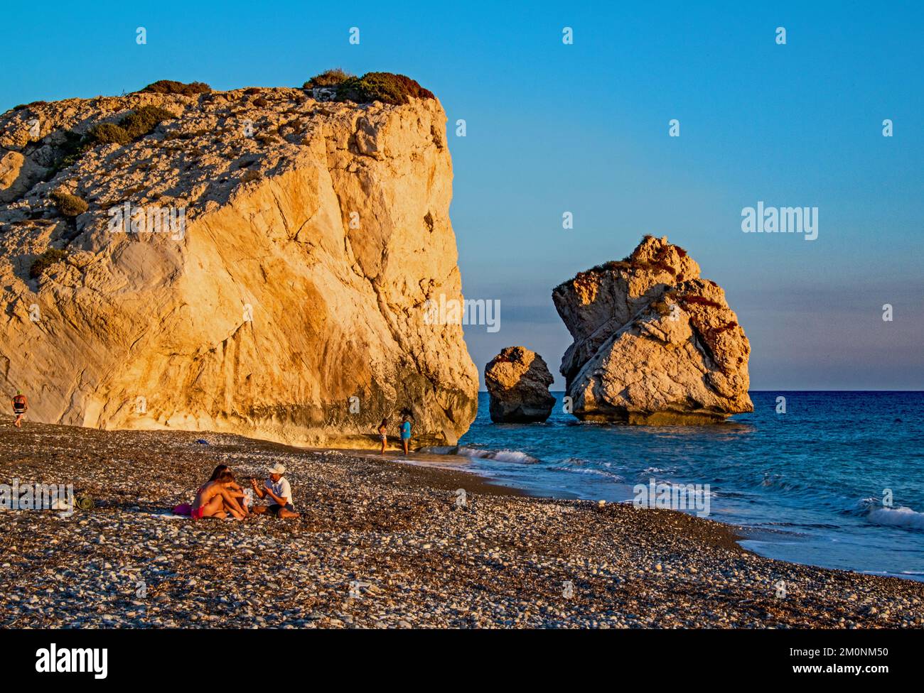
<svg viewBox="0 0 924 693">
<path fill-rule="evenodd" d="M 466 329 L 480 369 L 523 344 L 557 374 L 553 286 L 653 233 L 725 289 L 752 388 L 924 388 L 920 3 L 47 2 L 4 20 L 2 110 L 162 78 L 416 78 L 449 117 L 464 292 L 501 301 L 500 331 Z M 817 240 L 742 233 L 758 200 L 819 208 Z"/>
</svg>

